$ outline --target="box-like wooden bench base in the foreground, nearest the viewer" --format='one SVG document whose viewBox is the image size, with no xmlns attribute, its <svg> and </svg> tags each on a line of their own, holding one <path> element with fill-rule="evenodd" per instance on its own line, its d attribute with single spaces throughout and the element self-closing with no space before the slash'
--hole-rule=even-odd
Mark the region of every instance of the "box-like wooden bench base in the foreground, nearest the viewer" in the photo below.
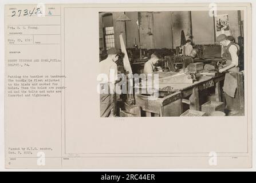
<svg viewBox="0 0 256 183">
<path fill-rule="evenodd" d="M 159 116 L 180 116 L 182 114 L 182 94 L 175 92 L 165 97 L 153 98 L 143 94 L 135 94 L 135 104 L 141 110 Z"/>
</svg>

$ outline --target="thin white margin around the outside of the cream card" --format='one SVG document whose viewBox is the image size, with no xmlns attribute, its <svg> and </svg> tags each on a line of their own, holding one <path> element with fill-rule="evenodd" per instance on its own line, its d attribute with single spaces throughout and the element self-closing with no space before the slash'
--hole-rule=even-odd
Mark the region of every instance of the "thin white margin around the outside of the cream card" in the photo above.
<svg viewBox="0 0 256 183">
<path fill-rule="evenodd" d="M 164 0 L 158 0 L 158 1 L 153 1 L 153 0 L 148 0 L 148 1 L 142 1 L 142 0 L 123 0 L 123 1 L 117 1 L 117 0 L 95 0 L 95 1 L 71 1 L 71 0 L 58 0 L 58 1 L 53 1 L 53 0 L 41 0 L 41 1 L 37 1 L 37 0 L 22 0 L 22 1 L 14 1 L 14 0 L 1 0 L 0 1 L 0 171 L 7 171 L 7 172 L 13 172 L 13 171 L 17 171 L 13 170 L 13 169 L 5 169 L 5 145 L 4 145 L 4 129 L 5 129 L 5 125 L 4 125 L 4 68 L 5 68 L 5 64 L 4 64 L 4 27 L 3 27 L 3 19 L 4 19 L 4 5 L 5 4 L 21 4 L 21 3 L 234 3 L 234 2 L 242 2 L 242 1 L 237 1 L 237 0 L 214 0 L 214 1 L 208 1 L 208 0 L 201 0 L 201 1 L 192 1 L 192 0 L 172 0 L 172 1 L 164 1 Z M 255 22 L 255 7 L 256 7 L 256 2 L 254 0 L 247 0 L 246 2 L 250 2 L 252 4 L 252 22 Z M 243 1 L 243 3 L 245 3 L 245 1 Z M 255 30 L 255 23 L 252 24 L 252 33 L 253 33 L 253 37 L 252 40 L 256 40 L 255 39 L 255 34 L 254 34 L 254 30 Z M 254 42 L 253 42 L 254 43 Z M 255 78 L 256 74 L 255 71 L 256 67 L 255 67 L 255 63 L 254 61 L 256 59 L 255 58 L 255 46 L 253 44 L 253 48 L 252 48 L 252 65 L 253 65 L 253 72 L 252 72 L 252 77 Z M 252 83 L 252 94 L 255 93 L 255 82 L 253 79 L 253 83 Z M 256 100 L 254 95 L 252 96 L 252 104 L 256 104 Z M 252 114 L 254 114 L 254 105 L 253 105 L 253 111 Z M 256 134 L 256 128 L 255 128 L 255 120 L 254 120 L 254 115 L 253 115 L 253 168 L 251 169 L 51 169 L 51 171 L 163 171 L 163 172 L 168 172 L 168 171 L 256 171 L 256 159 L 254 157 L 255 154 L 255 144 L 256 144 L 256 138 L 255 138 L 255 134 Z M 29 171 L 30 169 L 22 169 L 19 171 Z M 49 171 L 50 169 L 33 169 L 33 171 Z"/>
</svg>

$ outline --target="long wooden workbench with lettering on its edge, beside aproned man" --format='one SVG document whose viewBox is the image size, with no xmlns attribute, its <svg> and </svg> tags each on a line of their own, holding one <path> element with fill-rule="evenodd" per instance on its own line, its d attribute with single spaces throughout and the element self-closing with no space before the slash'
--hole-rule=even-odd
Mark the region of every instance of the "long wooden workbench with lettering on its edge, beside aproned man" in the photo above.
<svg viewBox="0 0 256 183">
<path fill-rule="evenodd" d="M 170 78 L 171 75 L 175 75 L 177 73 L 163 72 L 163 73 L 157 73 L 157 74 L 159 74 L 159 96 L 160 97 L 166 97 L 170 92 L 171 93 L 180 92 L 183 103 L 190 105 L 190 109 L 192 110 L 200 110 L 200 101 L 199 101 L 200 91 L 212 89 L 212 87 L 215 87 L 216 101 L 219 101 L 219 102 L 222 101 L 222 93 L 221 93 L 222 88 L 220 86 L 220 82 L 224 81 L 225 73 L 218 73 L 218 75 L 216 76 L 200 75 L 198 77 L 198 80 L 194 81 L 193 83 L 168 82 L 168 78 Z M 186 77 L 186 75 L 184 77 Z M 168 87 L 171 90 L 166 90 L 166 88 Z M 144 89 L 144 88 L 140 85 L 139 86 L 140 94 L 141 94 L 141 89 Z M 135 94 L 135 102 L 136 102 L 136 98 L 138 99 L 138 97 L 136 96 L 140 94 Z M 187 97 L 189 97 L 189 100 L 185 99 Z M 136 102 L 136 104 L 141 105 L 141 102 L 138 101 Z M 141 106 L 141 108 L 143 109 L 144 106 Z M 180 113 L 182 112 L 183 111 L 181 111 Z"/>
</svg>

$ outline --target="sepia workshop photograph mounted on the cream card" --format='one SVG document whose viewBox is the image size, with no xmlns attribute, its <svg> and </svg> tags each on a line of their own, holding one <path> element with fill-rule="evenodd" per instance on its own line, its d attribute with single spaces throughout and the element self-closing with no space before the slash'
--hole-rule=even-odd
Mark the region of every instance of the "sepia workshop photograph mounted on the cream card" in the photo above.
<svg viewBox="0 0 256 183">
<path fill-rule="evenodd" d="M 100 12 L 100 66 L 157 74 L 159 85 L 157 97 L 141 84 L 102 94 L 100 116 L 244 116 L 243 34 L 240 10 Z"/>
</svg>

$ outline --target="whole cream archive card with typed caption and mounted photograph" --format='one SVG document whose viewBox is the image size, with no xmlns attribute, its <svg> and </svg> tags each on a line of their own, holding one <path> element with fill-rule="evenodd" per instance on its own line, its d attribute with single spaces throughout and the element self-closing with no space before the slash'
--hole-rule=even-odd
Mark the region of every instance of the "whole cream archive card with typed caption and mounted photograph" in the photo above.
<svg viewBox="0 0 256 183">
<path fill-rule="evenodd" d="M 2 167 L 253 165 L 250 3 L 3 9 Z"/>
</svg>

